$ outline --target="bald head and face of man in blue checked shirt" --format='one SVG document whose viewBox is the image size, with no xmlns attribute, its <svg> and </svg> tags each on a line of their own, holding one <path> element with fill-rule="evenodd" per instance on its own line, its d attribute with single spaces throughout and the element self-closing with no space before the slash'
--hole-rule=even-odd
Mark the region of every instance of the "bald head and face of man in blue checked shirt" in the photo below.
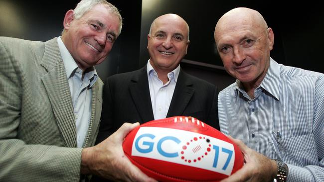
<svg viewBox="0 0 324 182">
<path fill-rule="evenodd" d="M 274 35 L 261 14 L 236 8 L 215 27 L 215 41 L 226 71 L 244 84 L 259 86 L 270 64 Z"/>
</svg>

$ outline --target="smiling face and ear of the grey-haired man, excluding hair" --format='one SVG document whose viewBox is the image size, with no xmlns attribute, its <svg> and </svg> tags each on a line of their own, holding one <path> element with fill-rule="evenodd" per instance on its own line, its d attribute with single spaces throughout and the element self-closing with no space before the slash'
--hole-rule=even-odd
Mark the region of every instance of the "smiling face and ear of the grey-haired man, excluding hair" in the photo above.
<svg viewBox="0 0 324 182">
<path fill-rule="evenodd" d="M 73 10 L 64 18 L 62 41 L 80 69 L 102 63 L 108 56 L 119 32 L 120 21 L 103 4 L 97 4 L 81 18 Z"/>
</svg>

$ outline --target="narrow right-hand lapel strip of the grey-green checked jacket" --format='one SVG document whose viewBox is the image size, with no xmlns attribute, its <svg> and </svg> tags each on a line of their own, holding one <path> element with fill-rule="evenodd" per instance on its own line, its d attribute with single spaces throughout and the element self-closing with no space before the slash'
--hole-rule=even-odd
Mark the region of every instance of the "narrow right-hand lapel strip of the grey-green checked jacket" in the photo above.
<svg viewBox="0 0 324 182">
<path fill-rule="evenodd" d="M 91 119 L 83 147 L 90 147 L 94 143 L 102 109 L 102 88 L 103 83 L 98 78 L 96 83 L 92 86 Z"/>
</svg>

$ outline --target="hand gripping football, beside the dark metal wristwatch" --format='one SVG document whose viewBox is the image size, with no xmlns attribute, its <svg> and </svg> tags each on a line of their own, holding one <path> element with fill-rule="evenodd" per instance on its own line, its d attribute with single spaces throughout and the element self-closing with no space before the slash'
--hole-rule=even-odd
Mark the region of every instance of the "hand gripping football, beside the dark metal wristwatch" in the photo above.
<svg viewBox="0 0 324 182">
<path fill-rule="evenodd" d="M 246 163 L 221 182 L 272 182 L 277 174 L 277 163 L 248 148 L 241 140 L 229 138 L 240 148 Z"/>
</svg>

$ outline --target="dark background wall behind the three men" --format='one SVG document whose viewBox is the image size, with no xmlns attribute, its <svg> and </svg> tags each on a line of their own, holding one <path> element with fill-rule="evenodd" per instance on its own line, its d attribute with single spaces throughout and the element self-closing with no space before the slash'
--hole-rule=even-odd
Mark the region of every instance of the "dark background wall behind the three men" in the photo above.
<svg viewBox="0 0 324 182">
<path fill-rule="evenodd" d="M 46 41 L 59 36 L 64 14 L 78 0 L 0 0 L 0 36 Z M 226 11 L 239 6 L 258 10 L 275 33 L 271 57 L 277 62 L 324 73 L 324 7 L 318 1 L 293 2 L 260 0 L 110 0 L 124 18 L 122 34 L 107 60 L 96 66 L 101 78 L 133 71 L 144 66 L 147 34 L 151 22 L 165 13 L 176 13 L 190 27 L 188 54 L 181 67 L 188 73 L 217 85 L 234 82 L 223 69 L 213 31 Z M 287 2 L 288 3 L 288 2 Z"/>
</svg>

